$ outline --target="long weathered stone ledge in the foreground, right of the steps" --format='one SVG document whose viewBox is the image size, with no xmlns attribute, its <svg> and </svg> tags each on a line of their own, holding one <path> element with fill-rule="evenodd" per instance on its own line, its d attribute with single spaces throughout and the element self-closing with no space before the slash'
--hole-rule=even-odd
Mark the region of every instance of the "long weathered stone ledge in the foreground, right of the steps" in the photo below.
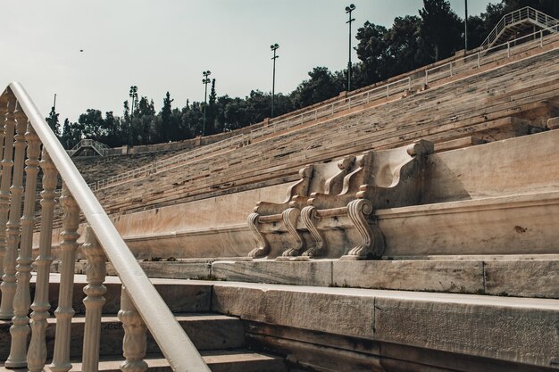
<svg viewBox="0 0 559 372">
<path fill-rule="evenodd" d="M 557 300 L 224 282 L 213 285 L 213 310 L 542 368 L 559 354 Z"/>
</svg>

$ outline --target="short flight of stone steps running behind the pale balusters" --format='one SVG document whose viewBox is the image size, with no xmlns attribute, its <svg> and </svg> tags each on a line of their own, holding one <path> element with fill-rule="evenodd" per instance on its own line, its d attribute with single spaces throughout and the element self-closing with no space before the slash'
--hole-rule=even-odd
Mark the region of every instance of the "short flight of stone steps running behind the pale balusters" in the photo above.
<svg viewBox="0 0 559 372">
<path fill-rule="evenodd" d="M 82 370 L 81 353 L 85 324 L 85 307 L 82 303 L 82 287 L 85 277 L 76 277 L 73 308 L 76 311 L 71 326 L 71 371 Z M 207 285 L 180 285 L 178 281 L 155 279 L 155 287 L 175 314 L 180 326 L 186 331 L 213 372 L 283 372 L 288 369 L 282 358 L 246 348 L 242 320 L 211 312 L 212 290 Z M 124 330 L 117 317 L 121 307 L 121 284 L 116 277 L 105 282 L 107 293 L 104 316 L 101 319 L 101 344 L 99 371 L 120 371 L 122 339 Z M 51 285 L 51 292 L 58 292 L 58 283 Z M 55 309 L 56 298 L 51 299 L 51 310 Z M 53 303 L 54 302 L 54 303 Z M 56 320 L 48 319 L 46 330 L 47 363 L 54 350 Z M 12 321 L 0 320 L 0 359 L 5 360 L 10 351 L 10 326 Z M 171 367 L 151 335 L 147 335 L 146 363 L 148 371 L 171 371 Z M 1 371 L 27 371 L 27 368 Z"/>
</svg>

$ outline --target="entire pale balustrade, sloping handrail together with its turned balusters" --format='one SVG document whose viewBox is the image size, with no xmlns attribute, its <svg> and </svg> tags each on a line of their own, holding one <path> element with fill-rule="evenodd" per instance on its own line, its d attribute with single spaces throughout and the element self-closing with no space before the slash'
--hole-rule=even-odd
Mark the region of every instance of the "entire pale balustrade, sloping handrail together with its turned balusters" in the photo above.
<svg viewBox="0 0 559 372">
<path fill-rule="evenodd" d="M 40 371 L 46 363 L 45 328 L 49 308 L 46 295 L 48 270 L 52 262 L 50 249 L 56 197 L 54 188 L 58 173 L 64 185 L 60 198 L 64 216 L 61 234 L 63 242 L 60 245 L 61 284 L 58 309 L 55 311 L 57 326 L 51 370 L 67 371 L 71 368 L 69 358 L 70 325 L 73 315 L 71 296 L 75 250 L 78 247 L 76 241 L 79 237 L 79 211 L 81 211 L 88 222 L 83 251 L 90 261 L 89 269 L 92 270 L 88 272 L 89 285 L 86 287 L 88 302 L 84 301 L 87 329 L 87 335 L 84 336 L 84 370 L 88 369 L 86 366 L 90 366 L 88 370 L 96 370 L 95 366 L 98 362 L 99 319 L 104 303 L 106 255 L 106 259 L 113 263 L 123 285 L 119 318 L 127 332 L 123 344 L 127 359 L 125 363 L 143 362 L 142 335 L 138 334 L 141 333 L 138 331 L 141 327 L 136 327 L 143 319 L 173 370 L 209 371 L 195 346 L 146 277 L 78 169 L 19 83 L 10 84 L 0 95 L 0 143 L 4 144 L 0 175 L 0 226 L 5 226 L 0 228 L 0 261 L 4 269 L 3 282 L 0 285 L 2 290 L 0 318 L 13 319 L 11 352 L 5 366 L 8 368 L 27 366 L 30 371 Z M 40 155 L 41 147 L 42 155 Z M 30 304 L 29 280 L 33 262 L 31 244 L 36 214 L 35 195 L 39 165 L 44 174 L 41 193 L 41 230 L 39 254 L 35 260 L 38 268 L 36 293 L 34 302 Z M 22 182 L 24 171 L 25 185 Z M 23 193 L 25 193 L 25 201 L 21 216 Z M 29 310 L 33 310 L 30 319 Z M 32 332 L 28 350 L 29 331 Z M 143 337 L 145 339 L 145 335 Z M 97 353 L 92 353 L 95 350 Z M 145 354 L 145 347 L 143 352 Z"/>
</svg>

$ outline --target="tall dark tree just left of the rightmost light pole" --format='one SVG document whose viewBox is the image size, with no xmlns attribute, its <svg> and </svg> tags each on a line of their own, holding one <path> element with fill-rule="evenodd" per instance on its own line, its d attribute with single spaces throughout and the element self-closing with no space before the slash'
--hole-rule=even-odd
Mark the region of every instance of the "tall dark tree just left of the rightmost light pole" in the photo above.
<svg viewBox="0 0 559 372">
<path fill-rule="evenodd" d="M 421 34 L 433 52 L 434 61 L 444 59 L 462 45 L 462 21 L 446 0 L 423 0 Z"/>
</svg>

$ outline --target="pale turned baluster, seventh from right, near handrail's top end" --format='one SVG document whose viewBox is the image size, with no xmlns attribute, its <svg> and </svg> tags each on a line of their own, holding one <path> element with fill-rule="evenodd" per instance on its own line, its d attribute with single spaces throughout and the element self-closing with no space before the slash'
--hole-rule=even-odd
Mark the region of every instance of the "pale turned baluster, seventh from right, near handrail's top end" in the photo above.
<svg viewBox="0 0 559 372">
<path fill-rule="evenodd" d="M 6 222 L 10 211 L 10 185 L 13 167 L 13 132 L 15 129 L 15 100 L 8 102 L 4 122 L 4 152 L 2 157 L 2 181 L 0 181 L 0 257 L 2 258 L 2 277 L 4 277 L 4 258 L 6 255 Z M 2 287 L 0 286 L 0 289 Z"/>
</svg>

